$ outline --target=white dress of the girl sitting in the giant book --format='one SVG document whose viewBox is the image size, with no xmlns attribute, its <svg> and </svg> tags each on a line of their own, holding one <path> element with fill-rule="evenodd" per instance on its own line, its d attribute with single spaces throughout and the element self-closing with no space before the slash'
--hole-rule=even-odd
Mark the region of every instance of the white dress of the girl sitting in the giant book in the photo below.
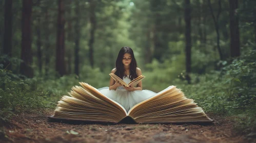
<svg viewBox="0 0 256 143">
<path fill-rule="evenodd" d="M 124 77 L 123 80 L 127 84 L 131 81 L 128 77 Z M 117 87 L 116 90 L 109 90 L 109 87 L 102 87 L 98 90 L 100 90 L 100 92 L 106 97 L 120 103 L 127 112 L 137 103 L 140 103 L 156 94 L 150 90 L 127 91 L 122 86 Z"/>
</svg>

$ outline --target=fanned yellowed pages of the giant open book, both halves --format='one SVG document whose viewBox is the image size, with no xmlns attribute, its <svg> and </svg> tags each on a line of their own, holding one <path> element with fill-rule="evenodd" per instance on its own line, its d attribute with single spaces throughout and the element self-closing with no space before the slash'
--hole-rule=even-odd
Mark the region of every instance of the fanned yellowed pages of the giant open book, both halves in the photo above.
<svg viewBox="0 0 256 143">
<path fill-rule="evenodd" d="M 192 99 L 175 86 L 169 86 L 155 96 L 136 104 L 128 112 L 91 85 L 80 82 L 70 96 L 63 96 L 54 114 L 59 120 L 119 123 L 130 117 L 136 123 L 191 123 L 213 122 Z"/>
</svg>

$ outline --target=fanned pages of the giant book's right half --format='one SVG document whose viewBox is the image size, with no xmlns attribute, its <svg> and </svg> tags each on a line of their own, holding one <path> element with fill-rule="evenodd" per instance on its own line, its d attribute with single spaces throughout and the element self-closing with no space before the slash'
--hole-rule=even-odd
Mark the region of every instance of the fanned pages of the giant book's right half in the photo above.
<svg viewBox="0 0 256 143">
<path fill-rule="evenodd" d="M 137 123 L 212 122 L 192 99 L 175 86 L 135 105 L 128 111 Z"/>
</svg>

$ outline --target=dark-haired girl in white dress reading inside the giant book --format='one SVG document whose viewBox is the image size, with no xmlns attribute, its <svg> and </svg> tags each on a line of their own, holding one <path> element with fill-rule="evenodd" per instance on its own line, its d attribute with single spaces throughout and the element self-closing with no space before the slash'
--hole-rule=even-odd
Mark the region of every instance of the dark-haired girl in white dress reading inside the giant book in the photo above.
<svg viewBox="0 0 256 143">
<path fill-rule="evenodd" d="M 126 83 L 142 75 L 142 71 L 137 67 L 133 51 L 130 47 L 122 47 L 115 61 L 115 68 L 112 69 L 111 73 L 120 77 Z M 142 90 L 142 81 L 134 87 L 125 87 L 119 82 L 115 82 L 111 77 L 109 87 L 103 87 L 99 90 L 108 98 L 120 103 L 127 112 L 135 104 L 156 94 L 150 90 Z"/>
</svg>

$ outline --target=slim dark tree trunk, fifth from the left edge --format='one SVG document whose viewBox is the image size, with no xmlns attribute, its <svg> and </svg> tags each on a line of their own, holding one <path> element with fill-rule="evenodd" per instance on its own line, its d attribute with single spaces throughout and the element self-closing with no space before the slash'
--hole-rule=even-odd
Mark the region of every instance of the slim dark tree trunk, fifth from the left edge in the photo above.
<svg viewBox="0 0 256 143">
<path fill-rule="evenodd" d="M 79 2 L 76 1 L 75 9 L 75 51 L 74 51 L 74 64 L 75 64 L 75 74 L 79 76 L 79 50 L 80 50 L 80 8 Z"/>
</svg>

